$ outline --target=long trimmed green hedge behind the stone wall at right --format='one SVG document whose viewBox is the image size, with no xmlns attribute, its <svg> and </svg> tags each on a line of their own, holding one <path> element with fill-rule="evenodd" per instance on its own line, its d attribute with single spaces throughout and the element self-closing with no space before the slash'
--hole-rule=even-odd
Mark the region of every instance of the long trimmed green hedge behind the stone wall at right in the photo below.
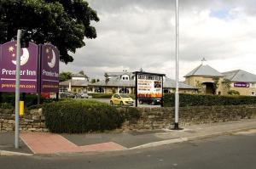
<svg viewBox="0 0 256 169">
<path fill-rule="evenodd" d="M 256 97 L 253 96 L 219 96 L 219 95 L 200 95 L 200 94 L 179 94 L 179 105 L 198 106 L 198 105 L 238 105 L 256 104 Z M 172 107 L 175 105 L 174 93 L 164 95 L 164 106 Z"/>
</svg>

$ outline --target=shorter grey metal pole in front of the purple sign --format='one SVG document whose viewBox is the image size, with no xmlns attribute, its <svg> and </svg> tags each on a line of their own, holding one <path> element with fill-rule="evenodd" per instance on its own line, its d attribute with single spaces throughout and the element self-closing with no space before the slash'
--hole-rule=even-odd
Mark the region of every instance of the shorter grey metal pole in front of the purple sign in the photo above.
<svg viewBox="0 0 256 169">
<path fill-rule="evenodd" d="M 17 32 L 16 49 L 16 86 L 15 86 L 15 149 L 19 149 L 19 110 L 20 110 L 20 37 L 21 30 Z"/>
</svg>

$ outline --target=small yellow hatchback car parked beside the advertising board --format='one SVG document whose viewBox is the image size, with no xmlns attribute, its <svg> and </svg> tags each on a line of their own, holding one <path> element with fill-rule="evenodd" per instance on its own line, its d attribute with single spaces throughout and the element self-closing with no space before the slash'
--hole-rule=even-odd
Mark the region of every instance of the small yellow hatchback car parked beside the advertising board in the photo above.
<svg viewBox="0 0 256 169">
<path fill-rule="evenodd" d="M 133 105 L 134 100 L 127 94 L 113 94 L 110 99 L 110 104 L 120 104 L 120 105 Z"/>
</svg>

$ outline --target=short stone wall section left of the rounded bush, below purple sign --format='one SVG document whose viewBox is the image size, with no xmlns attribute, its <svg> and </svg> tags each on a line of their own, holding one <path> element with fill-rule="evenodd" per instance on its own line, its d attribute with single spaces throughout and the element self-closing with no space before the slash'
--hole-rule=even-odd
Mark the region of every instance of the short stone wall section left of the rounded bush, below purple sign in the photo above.
<svg viewBox="0 0 256 169">
<path fill-rule="evenodd" d="M 0 109 L 0 132 L 15 130 L 15 110 Z M 26 110 L 20 116 L 20 130 L 32 132 L 47 132 L 44 125 L 42 109 Z"/>
</svg>

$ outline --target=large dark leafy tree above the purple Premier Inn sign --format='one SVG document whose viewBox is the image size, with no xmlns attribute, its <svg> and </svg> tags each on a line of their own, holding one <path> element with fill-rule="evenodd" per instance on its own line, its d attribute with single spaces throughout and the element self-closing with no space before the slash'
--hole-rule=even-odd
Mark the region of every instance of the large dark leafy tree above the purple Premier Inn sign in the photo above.
<svg viewBox="0 0 256 169">
<path fill-rule="evenodd" d="M 84 0 L 1 0 L 0 43 L 14 39 L 22 29 L 29 41 L 55 45 L 67 64 L 73 61 L 68 52 L 85 46 L 84 37 L 96 38 L 92 20 L 99 18 Z"/>
</svg>

